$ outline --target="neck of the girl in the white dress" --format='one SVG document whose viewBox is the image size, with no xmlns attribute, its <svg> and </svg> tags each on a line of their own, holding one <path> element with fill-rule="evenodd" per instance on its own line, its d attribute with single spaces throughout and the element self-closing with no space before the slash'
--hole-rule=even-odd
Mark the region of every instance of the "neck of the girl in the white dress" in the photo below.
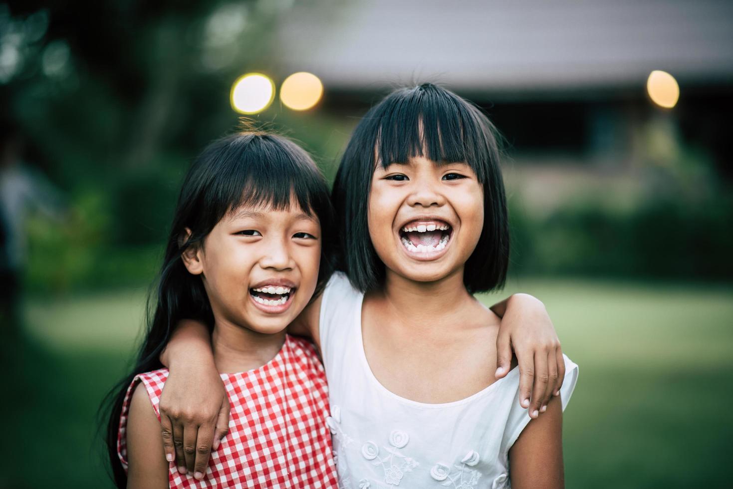
<svg viewBox="0 0 733 489">
<path fill-rule="evenodd" d="M 405 328 L 442 328 L 474 301 L 465 290 L 463 268 L 435 282 L 415 282 L 387 271 L 382 299 Z M 381 294 L 380 294 L 381 295 Z"/>
</svg>

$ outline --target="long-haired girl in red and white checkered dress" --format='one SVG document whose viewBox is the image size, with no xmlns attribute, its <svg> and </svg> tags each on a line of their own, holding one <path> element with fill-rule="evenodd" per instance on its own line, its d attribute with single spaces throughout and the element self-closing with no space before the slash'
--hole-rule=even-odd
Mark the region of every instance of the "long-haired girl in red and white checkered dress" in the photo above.
<svg viewBox="0 0 733 489">
<path fill-rule="evenodd" d="M 332 209 L 322 175 L 287 139 L 237 133 L 211 144 L 183 183 L 136 367 L 119 384 L 107 443 L 118 487 L 336 485 L 325 373 L 286 326 L 330 274 Z M 324 254 L 325 251 L 325 254 Z M 207 466 L 163 457 L 159 361 L 172 326 L 210 327 L 229 430 Z M 172 435 L 172 433 L 169 433 Z M 204 446 L 205 445 L 205 446 Z M 210 441 L 204 446 L 207 451 Z M 194 460 L 194 451 L 183 457 Z"/>
</svg>

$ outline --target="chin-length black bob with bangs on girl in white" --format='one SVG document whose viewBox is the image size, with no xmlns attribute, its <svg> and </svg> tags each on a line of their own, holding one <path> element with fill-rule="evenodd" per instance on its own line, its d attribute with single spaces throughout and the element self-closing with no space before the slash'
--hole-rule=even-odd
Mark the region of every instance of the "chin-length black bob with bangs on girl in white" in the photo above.
<svg viewBox="0 0 733 489">
<path fill-rule="evenodd" d="M 484 227 L 465 263 L 470 293 L 504 287 L 509 265 L 509 223 L 499 168 L 500 137 L 472 103 L 434 84 L 397 89 L 358 123 L 336 173 L 339 269 L 358 290 L 379 287 L 385 266 L 369 238 L 367 205 L 372 175 L 381 164 L 422 156 L 438 164 L 465 162 L 484 191 Z"/>
</svg>

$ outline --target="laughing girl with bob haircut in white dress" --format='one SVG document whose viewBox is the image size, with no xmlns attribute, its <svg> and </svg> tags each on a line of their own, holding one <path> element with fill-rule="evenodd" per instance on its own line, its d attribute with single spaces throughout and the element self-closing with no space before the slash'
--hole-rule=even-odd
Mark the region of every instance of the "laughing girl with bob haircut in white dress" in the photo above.
<svg viewBox="0 0 733 489">
<path fill-rule="evenodd" d="M 291 327 L 323 355 L 342 487 L 564 485 L 578 367 L 559 345 L 535 351 L 555 397 L 529 408 L 519 369 L 493 368 L 500 318 L 473 297 L 509 262 L 498 155 L 487 117 L 432 84 L 389 95 L 350 140 L 333 193 L 342 272 Z M 202 350 L 187 340 L 168 360 Z"/>
</svg>

